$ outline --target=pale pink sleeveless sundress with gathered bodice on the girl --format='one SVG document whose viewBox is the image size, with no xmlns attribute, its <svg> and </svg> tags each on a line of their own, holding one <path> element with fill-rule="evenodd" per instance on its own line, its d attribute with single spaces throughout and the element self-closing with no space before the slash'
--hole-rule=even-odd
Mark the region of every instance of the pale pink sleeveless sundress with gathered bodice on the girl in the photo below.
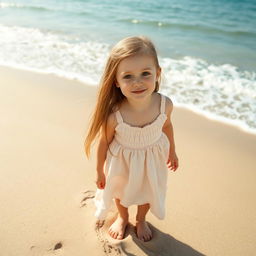
<svg viewBox="0 0 256 256">
<path fill-rule="evenodd" d="M 149 203 L 157 218 L 165 216 L 169 140 L 162 132 L 167 116 L 165 96 L 160 95 L 158 117 L 143 127 L 125 123 L 120 112 L 115 112 L 118 124 L 110 144 L 113 155 L 108 150 L 104 167 L 106 185 L 97 189 L 94 198 L 99 220 L 106 218 L 114 198 L 124 207 Z"/>
</svg>

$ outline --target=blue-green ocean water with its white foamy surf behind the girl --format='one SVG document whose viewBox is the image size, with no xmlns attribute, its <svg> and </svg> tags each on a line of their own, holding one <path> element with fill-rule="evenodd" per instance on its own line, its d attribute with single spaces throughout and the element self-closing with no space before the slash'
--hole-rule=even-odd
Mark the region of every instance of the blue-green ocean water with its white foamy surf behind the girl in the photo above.
<svg viewBox="0 0 256 256">
<path fill-rule="evenodd" d="M 155 43 L 175 105 L 256 133 L 255 0 L 0 1 L 0 65 L 96 86 L 131 35 Z"/>
</svg>

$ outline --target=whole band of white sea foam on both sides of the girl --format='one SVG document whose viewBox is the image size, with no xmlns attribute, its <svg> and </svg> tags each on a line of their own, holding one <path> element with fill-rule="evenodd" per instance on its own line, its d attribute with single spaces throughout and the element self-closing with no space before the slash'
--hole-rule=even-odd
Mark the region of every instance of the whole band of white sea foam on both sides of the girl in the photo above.
<svg viewBox="0 0 256 256">
<path fill-rule="evenodd" d="M 39 29 L 0 25 L 0 65 L 97 85 L 110 46 Z M 161 91 L 175 105 L 256 134 L 256 74 L 201 59 L 159 58 Z"/>
</svg>

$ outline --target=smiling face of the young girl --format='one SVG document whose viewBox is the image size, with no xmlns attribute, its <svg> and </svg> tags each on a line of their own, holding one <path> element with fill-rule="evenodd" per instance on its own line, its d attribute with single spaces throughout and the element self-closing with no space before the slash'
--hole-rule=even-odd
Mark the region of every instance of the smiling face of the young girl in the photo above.
<svg viewBox="0 0 256 256">
<path fill-rule="evenodd" d="M 149 55 L 127 57 L 117 67 L 116 86 L 127 99 L 144 98 L 154 92 L 160 73 Z"/>
</svg>

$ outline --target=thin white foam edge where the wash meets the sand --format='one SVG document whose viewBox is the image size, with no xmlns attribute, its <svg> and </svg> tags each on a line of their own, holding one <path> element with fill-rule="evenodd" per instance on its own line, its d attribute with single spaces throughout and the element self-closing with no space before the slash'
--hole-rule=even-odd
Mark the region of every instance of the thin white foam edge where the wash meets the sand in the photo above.
<svg viewBox="0 0 256 256">
<path fill-rule="evenodd" d="M 72 77 L 71 75 L 70 76 L 65 76 L 64 74 L 57 74 L 57 73 L 50 73 L 50 72 L 43 72 L 42 70 L 39 70 L 39 69 L 33 69 L 33 68 L 26 68 L 24 66 L 4 66 L 4 65 L 1 65 L 0 64 L 0 69 L 10 69 L 10 70 L 16 70 L 16 71 L 24 71 L 24 72 L 32 72 L 32 73 L 35 73 L 35 74 L 41 74 L 41 75 L 52 75 L 52 76 L 56 76 L 56 77 L 59 77 L 60 79 L 67 79 L 69 81 L 74 81 L 74 82 L 79 82 L 79 83 L 82 83 L 86 86 L 92 86 L 94 88 L 97 88 L 96 86 L 96 83 L 93 83 L 91 80 L 89 79 L 83 79 L 83 78 L 77 78 L 77 77 Z M 213 121 L 213 122 L 220 122 L 221 124 L 225 124 L 225 125 L 228 125 L 228 126 L 231 126 L 233 128 L 236 128 L 242 132 L 245 132 L 247 134 L 250 134 L 250 135 L 254 135 L 256 136 L 256 129 L 252 129 L 252 128 L 248 128 L 245 126 L 245 124 L 242 124 L 240 123 L 240 121 L 233 121 L 233 120 L 230 120 L 230 119 L 227 119 L 225 117 L 222 117 L 222 116 L 218 116 L 214 113 L 210 113 L 210 112 L 207 112 L 207 111 L 204 111 L 204 110 L 200 110 L 200 109 L 197 109 L 196 107 L 194 106 L 186 106 L 185 104 L 183 103 L 175 103 L 174 102 L 174 107 L 175 108 L 180 108 L 180 109 L 184 109 L 184 110 L 187 110 L 191 113 L 194 113 L 196 115 L 199 115 L 203 118 L 206 118 L 210 121 Z"/>
</svg>

